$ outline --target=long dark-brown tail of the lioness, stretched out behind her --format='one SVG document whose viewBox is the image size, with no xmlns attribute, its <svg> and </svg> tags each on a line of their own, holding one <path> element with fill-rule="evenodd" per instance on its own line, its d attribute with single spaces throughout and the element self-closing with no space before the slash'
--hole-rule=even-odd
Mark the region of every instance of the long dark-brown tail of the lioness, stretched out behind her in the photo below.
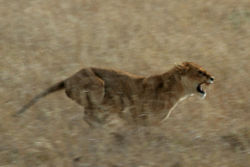
<svg viewBox="0 0 250 167">
<path fill-rule="evenodd" d="M 40 94 L 38 94 L 37 96 L 35 96 L 32 100 L 30 100 L 29 103 L 25 104 L 15 115 L 18 116 L 19 114 L 22 114 L 28 108 L 30 108 L 32 105 L 34 105 L 42 97 L 45 97 L 46 95 L 48 95 L 50 93 L 56 92 L 56 91 L 64 89 L 64 88 L 65 88 L 64 81 L 61 81 L 61 82 L 49 87 L 45 91 L 43 91 Z"/>
</svg>

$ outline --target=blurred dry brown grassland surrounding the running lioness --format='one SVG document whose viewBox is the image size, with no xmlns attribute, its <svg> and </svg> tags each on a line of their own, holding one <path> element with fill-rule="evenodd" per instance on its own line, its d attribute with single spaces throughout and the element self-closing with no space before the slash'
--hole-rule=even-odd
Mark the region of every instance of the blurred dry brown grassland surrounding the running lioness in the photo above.
<svg viewBox="0 0 250 167">
<path fill-rule="evenodd" d="M 1 167 L 249 167 L 249 0 L 1 0 Z M 158 127 L 90 129 L 63 92 L 18 109 L 83 67 L 215 76 Z"/>
</svg>

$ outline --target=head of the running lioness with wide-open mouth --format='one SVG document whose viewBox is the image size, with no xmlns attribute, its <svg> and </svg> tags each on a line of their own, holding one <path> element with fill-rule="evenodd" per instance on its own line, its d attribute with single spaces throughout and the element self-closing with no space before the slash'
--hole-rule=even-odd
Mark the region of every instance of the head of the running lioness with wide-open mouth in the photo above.
<svg viewBox="0 0 250 167">
<path fill-rule="evenodd" d="M 214 82 L 214 77 L 199 65 L 192 62 L 184 62 L 179 65 L 182 71 L 183 85 L 191 94 L 199 94 L 201 97 L 206 96 L 204 85 L 210 85 Z"/>
</svg>

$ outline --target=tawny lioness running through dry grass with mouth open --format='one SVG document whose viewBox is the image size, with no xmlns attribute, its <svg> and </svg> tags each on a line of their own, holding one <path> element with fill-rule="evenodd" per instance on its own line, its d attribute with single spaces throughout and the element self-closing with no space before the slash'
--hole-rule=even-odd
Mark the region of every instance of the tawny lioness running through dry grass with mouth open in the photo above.
<svg viewBox="0 0 250 167">
<path fill-rule="evenodd" d="M 169 117 L 180 100 L 193 94 L 205 97 L 202 86 L 213 81 L 213 76 L 191 62 L 149 77 L 111 69 L 84 68 L 38 94 L 17 114 L 40 98 L 65 89 L 69 98 L 84 107 L 84 119 L 90 126 L 107 122 L 110 115 L 136 124 L 158 123 Z"/>
</svg>

